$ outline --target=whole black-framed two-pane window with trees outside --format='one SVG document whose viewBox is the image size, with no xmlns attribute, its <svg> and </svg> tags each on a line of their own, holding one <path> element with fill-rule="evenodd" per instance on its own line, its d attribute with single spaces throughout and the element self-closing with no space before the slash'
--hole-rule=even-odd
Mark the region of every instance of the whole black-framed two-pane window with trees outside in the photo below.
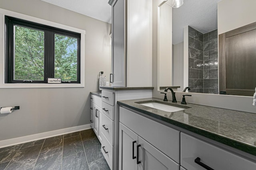
<svg viewBox="0 0 256 170">
<path fill-rule="evenodd" d="M 80 83 L 81 34 L 5 16 L 5 83 Z"/>
</svg>

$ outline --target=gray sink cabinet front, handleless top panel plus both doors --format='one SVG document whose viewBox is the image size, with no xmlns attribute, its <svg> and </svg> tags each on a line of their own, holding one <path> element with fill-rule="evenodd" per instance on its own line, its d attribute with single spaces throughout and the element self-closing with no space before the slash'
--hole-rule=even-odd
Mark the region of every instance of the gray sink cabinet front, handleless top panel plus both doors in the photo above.
<svg viewBox="0 0 256 170">
<path fill-rule="evenodd" d="M 119 114 L 119 170 L 179 170 L 180 131 L 123 107 Z"/>
</svg>

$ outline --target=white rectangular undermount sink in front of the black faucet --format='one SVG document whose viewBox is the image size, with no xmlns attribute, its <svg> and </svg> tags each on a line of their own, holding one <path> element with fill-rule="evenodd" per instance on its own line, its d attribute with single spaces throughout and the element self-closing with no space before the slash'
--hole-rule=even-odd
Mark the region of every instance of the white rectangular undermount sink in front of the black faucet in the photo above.
<svg viewBox="0 0 256 170">
<path fill-rule="evenodd" d="M 143 102 L 136 102 L 136 103 L 141 104 L 143 106 L 159 109 L 162 111 L 167 111 L 167 112 L 181 111 L 181 110 L 190 108 L 188 106 L 181 106 L 181 105 L 167 103 L 167 102 L 160 102 L 157 100 L 150 100 L 150 101 L 143 101 Z"/>
</svg>

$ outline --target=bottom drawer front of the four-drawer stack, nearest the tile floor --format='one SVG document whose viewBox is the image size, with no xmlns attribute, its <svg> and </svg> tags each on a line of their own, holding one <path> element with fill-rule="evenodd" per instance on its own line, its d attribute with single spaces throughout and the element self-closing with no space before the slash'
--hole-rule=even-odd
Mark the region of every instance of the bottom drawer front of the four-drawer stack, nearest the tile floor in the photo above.
<svg viewBox="0 0 256 170">
<path fill-rule="evenodd" d="M 105 152 L 106 151 L 106 152 Z M 102 133 L 102 142 L 101 142 L 101 152 L 104 156 L 104 158 L 106 159 L 108 166 L 110 168 L 110 170 L 112 170 L 113 165 L 114 165 L 114 147 L 112 147 L 110 145 L 110 143 L 108 143 L 106 137 L 103 135 Z"/>
</svg>

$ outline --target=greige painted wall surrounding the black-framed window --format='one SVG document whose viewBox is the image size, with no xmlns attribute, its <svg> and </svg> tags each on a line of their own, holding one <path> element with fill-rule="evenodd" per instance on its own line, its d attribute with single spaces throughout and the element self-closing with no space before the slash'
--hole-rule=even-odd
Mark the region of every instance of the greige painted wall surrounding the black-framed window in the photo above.
<svg viewBox="0 0 256 170">
<path fill-rule="evenodd" d="M 90 123 L 91 91 L 98 74 L 110 74 L 110 24 L 41 0 L 0 0 L 0 8 L 86 30 L 84 88 L 0 88 L 0 106 L 20 110 L 0 115 L 0 141 Z"/>
</svg>

